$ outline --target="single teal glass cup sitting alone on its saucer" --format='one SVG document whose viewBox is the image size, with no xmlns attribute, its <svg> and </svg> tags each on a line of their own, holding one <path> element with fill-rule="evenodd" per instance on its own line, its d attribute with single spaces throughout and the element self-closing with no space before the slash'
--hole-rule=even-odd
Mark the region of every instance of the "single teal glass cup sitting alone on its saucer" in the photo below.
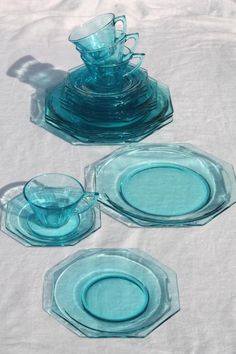
<svg viewBox="0 0 236 354">
<path fill-rule="evenodd" d="M 35 218 L 45 227 L 65 225 L 75 214 L 97 202 L 97 193 L 86 192 L 75 178 L 60 173 L 45 173 L 32 178 L 23 189 Z"/>
</svg>

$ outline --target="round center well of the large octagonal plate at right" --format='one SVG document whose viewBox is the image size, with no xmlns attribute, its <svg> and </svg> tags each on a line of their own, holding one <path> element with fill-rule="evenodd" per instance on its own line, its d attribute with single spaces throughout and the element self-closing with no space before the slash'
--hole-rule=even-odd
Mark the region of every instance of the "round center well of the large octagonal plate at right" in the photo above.
<svg viewBox="0 0 236 354">
<path fill-rule="evenodd" d="M 135 209 L 170 217 L 202 208 L 209 200 L 210 188 L 205 178 L 190 168 L 158 164 L 125 175 L 120 193 Z"/>
</svg>

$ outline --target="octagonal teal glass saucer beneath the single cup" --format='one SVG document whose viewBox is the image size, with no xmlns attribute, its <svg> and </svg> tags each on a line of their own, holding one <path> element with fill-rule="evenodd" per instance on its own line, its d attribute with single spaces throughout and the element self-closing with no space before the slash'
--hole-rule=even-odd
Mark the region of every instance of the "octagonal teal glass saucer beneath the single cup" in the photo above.
<svg viewBox="0 0 236 354">
<path fill-rule="evenodd" d="M 47 228 L 37 221 L 21 193 L 7 203 L 4 224 L 6 233 L 25 245 L 66 246 L 79 242 L 97 230 L 100 227 L 100 215 L 92 208 L 73 215 L 59 228 Z"/>
</svg>

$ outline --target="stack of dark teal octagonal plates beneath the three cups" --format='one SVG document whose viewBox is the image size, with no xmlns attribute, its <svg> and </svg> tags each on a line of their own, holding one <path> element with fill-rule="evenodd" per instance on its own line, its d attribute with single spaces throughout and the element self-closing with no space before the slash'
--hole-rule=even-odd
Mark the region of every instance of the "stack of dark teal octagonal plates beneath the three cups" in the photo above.
<svg viewBox="0 0 236 354">
<path fill-rule="evenodd" d="M 170 123 L 173 115 L 168 88 L 144 69 L 107 90 L 80 66 L 47 94 L 45 108 L 44 127 L 55 128 L 73 144 L 137 142 Z"/>
</svg>

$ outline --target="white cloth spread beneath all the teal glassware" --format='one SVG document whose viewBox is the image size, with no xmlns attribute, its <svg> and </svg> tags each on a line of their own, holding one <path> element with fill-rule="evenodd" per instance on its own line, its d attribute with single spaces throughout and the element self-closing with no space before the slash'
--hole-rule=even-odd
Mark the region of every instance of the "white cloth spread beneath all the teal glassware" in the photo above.
<svg viewBox="0 0 236 354">
<path fill-rule="evenodd" d="M 68 34 L 104 12 L 126 14 L 129 32 L 140 33 L 143 66 L 171 89 L 174 122 L 144 142 L 192 143 L 236 166 L 233 0 L 9 0 L 0 3 L 1 187 L 46 171 L 83 182 L 84 167 L 116 148 L 72 146 L 29 121 L 31 95 L 44 86 L 40 72 L 60 76 L 77 66 Z M 38 63 L 39 76 L 25 77 L 25 61 Z M 235 354 L 235 212 L 179 229 L 130 229 L 103 214 L 98 232 L 67 248 L 27 248 L 1 233 L 0 353 Z M 42 311 L 43 277 L 91 247 L 138 247 L 169 265 L 181 311 L 144 339 L 77 337 Z"/>
</svg>

